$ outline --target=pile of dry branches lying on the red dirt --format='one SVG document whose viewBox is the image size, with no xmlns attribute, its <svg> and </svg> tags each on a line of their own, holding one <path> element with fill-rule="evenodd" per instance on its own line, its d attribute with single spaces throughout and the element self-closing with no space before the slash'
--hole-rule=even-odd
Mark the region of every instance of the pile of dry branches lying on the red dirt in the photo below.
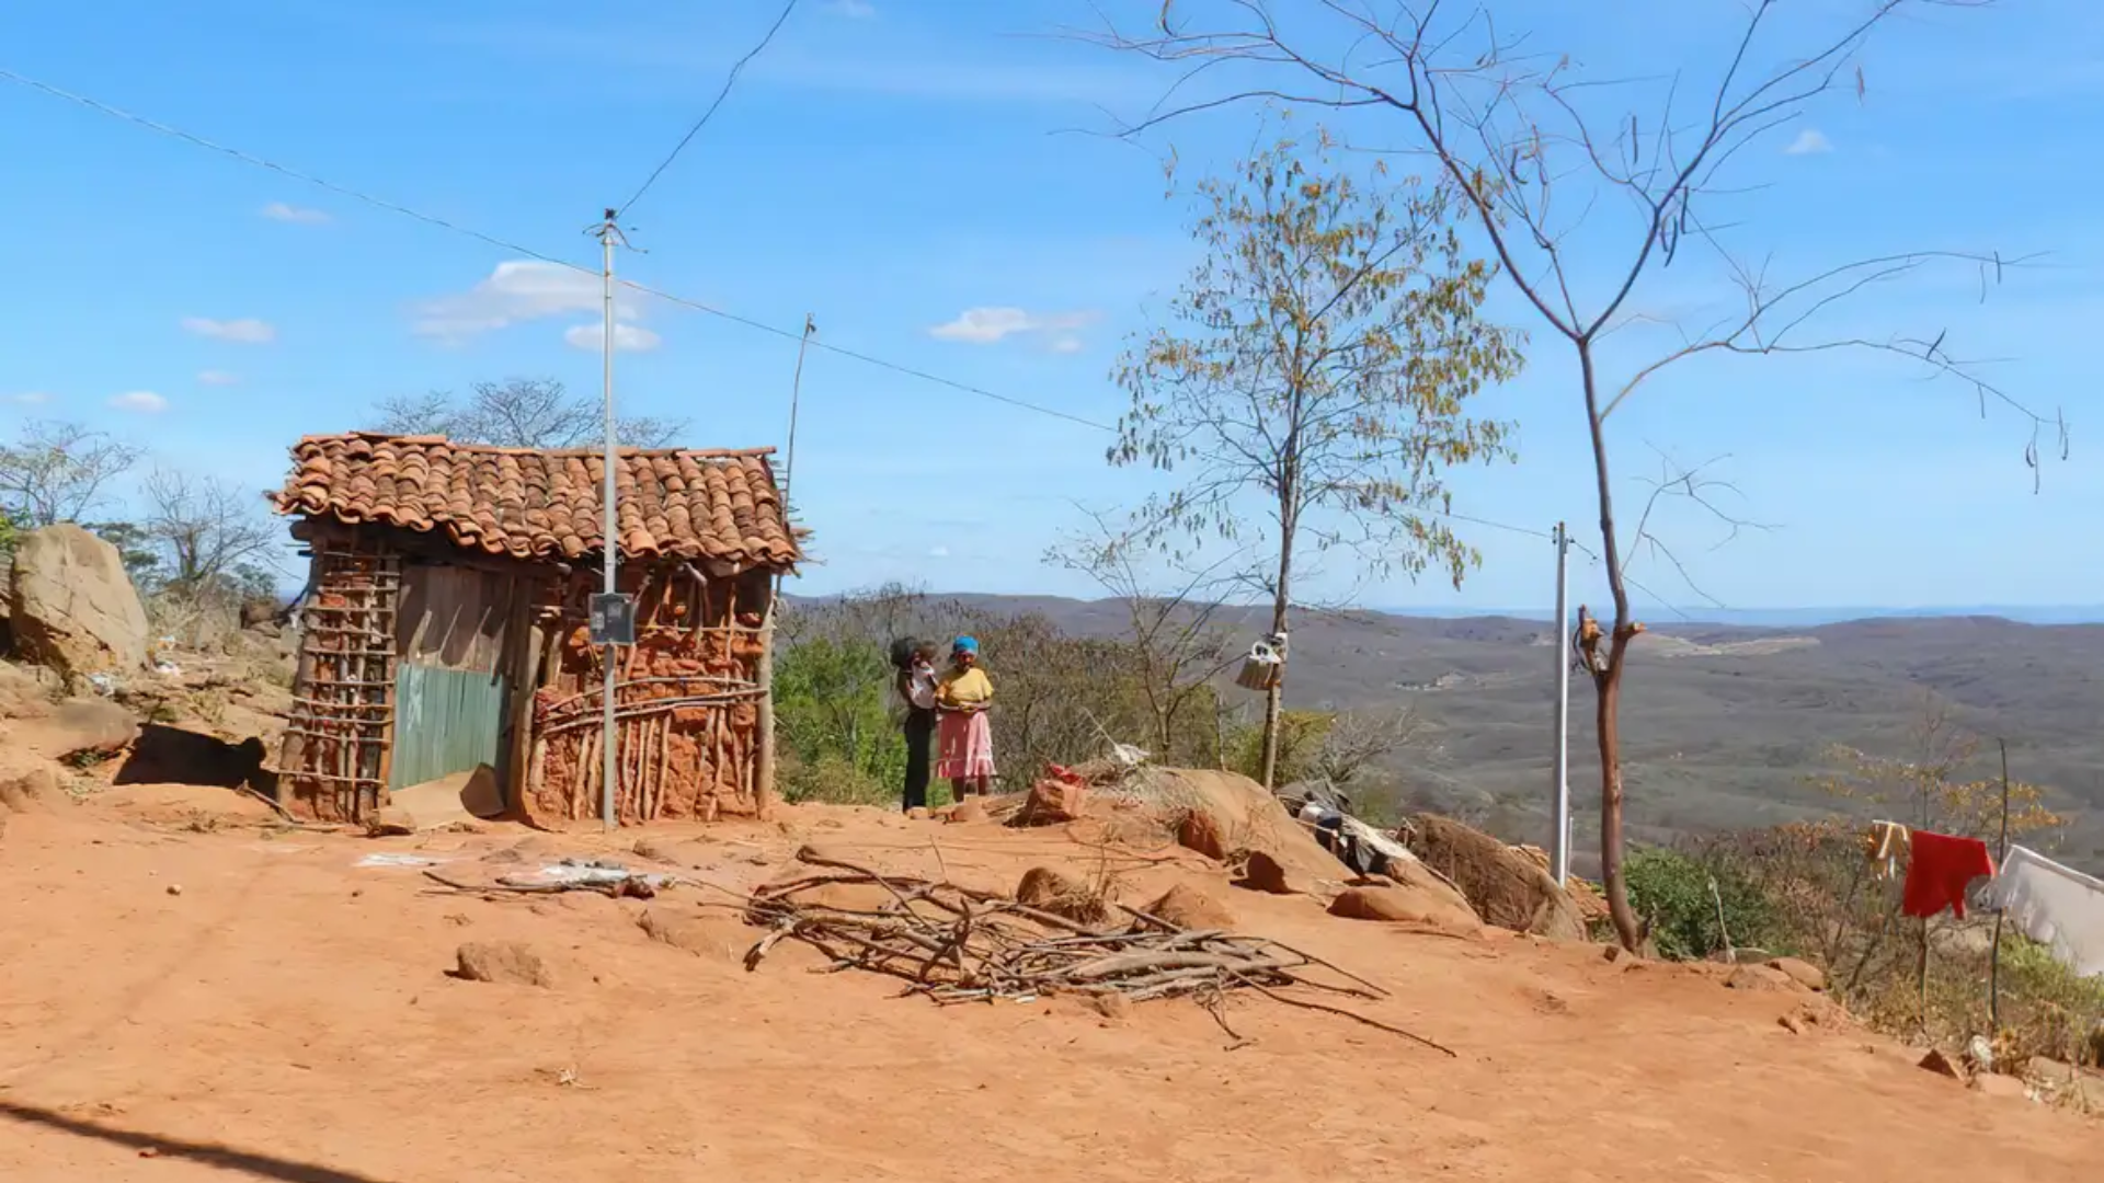
<svg viewBox="0 0 2104 1183">
<path fill-rule="evenodd" d="M 1018 903 L 999 893 L 911 876 L 882 876 L 812 848 L 797 859 L 814 874 L 768 884 L 747 905 L 747 920 L 770 933 L 745 956 L 757 968 L 781 941 L 823 951 L 833 970 L 871 970 L 907 981 L 905 994 L 938 1004 L 1031 1000 L 1052 994 L 1121 996 L 1128 1002 L 1189 996 L 1229 1036 L 1222 1000 L 1250 989 L 1275 1002 L 1323 1010 L 1454 1055 L 1450 1048 L 1365 1015 L 1294 998 L 1283 989 L 1384 998 L 1378 985 L 1321 958 L 1262 937 L 1191 930 L 1134 907 L 1130 926 L 1092 926 Z M 879 886 L 890 901 L 875 909 L 802 903 L 795 897 L 827 884 Z M 1235 1036 L 1239 1038 L 1239 1036 Z"/>
</svg>

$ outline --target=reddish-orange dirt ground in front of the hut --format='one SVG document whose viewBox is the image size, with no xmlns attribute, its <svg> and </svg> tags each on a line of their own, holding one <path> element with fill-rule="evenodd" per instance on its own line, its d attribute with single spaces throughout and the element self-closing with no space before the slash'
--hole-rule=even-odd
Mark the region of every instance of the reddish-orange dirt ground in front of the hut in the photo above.
<svg viewBox="0 0 2104 1183">
<path fill-rule="evenodd" d="M 267 834 L 227 800 L 118 789 L 0 838 L 0 1179 L 1982 1183 L 2104 1162 L 2100 1124 L 1969 1092 L 1860 1031 L 1782 1029 L 1801 994 L 1332 920 L 1231 893 L 1195 859 L 1107 861 L 1056 831 L 804 808 L 650 840 L 726 886 L 781 874 L 806 840 L 972 882 L 1113 869 L 1136 903 L 1201 882 L 1243 930 L 1391 987 L 1368 1012 L 1460 1057 L 1260 998 L 1229 1006 L 1252 1042 L 1227 1050 L 1189 1002 L 938 1010 L 808 973 L 793 945 L 749 975 L 753 930 L 705 907 L 728 897 L 433 895 L 417 869 L 353 863 L 471 861 L 524 831 Z M 717 916 L 722 947 L 654 943 L 644 907 Z M 576 977 L 446 975 L 457 945 L 492 939 Z"/>
</svg>

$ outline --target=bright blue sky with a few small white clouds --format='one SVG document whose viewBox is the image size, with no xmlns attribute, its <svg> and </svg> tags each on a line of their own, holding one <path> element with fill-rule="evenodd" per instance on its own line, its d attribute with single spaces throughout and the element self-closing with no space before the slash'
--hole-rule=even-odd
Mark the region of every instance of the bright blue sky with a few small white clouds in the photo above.
<svg viewBox="0 0 2104 1183">
<path fill-rule="evenodd" d="M 1738 11 L 1643 0 L 1582 25 L 1557 15 L 1565 4 L 1494 6 L 1597 76 L 1645 72 L 1637 48 L 1706 74 Z M 1157 4 L 1113 8 L 1145 19 Z M 80 0 L 0 11 L 0 67 L 589 265 L 583 227 L 648 175 L 776 13 L 772 0 Z M 804 0 L 627 219 L 644 253 L 621 272 L 791 333 L 812 314 L 831 345 L 1115 419 L 1117 352 L 1193 263 L 1189 204 L 1166 200 L 1159 160 L 1174 147 L 1187 177 L 1222 164 L 1258 112 L 1140 145 L 1088 135 L 1166 82 L 1048 36 L 1088 15 L 1077 0 Z M 1643 497 L 1654 446 L 1729 453 L 1717 476 L 1774 528 L 1713 549 L 1715 522 L 1660 526 L 1711 596 L 1734 608 L 2104 600 L 2091 543 L 2104 478 L 2083 448 L 2104 429 L 2089 379 L 2104 314 L 2100 63 L 2096 6 L 1931 13 L 1873 44 L 1866 101 L 1822 101 L 1742 158 L 1734 179 L 1759 187 L 1729 198 L 1732 242 L 1772 255 L 1778 276 L 1898 248 L 2051 253 L 1986 303 L 1950 272 L 1849 305 L 1833 333 L 1948 330 L 1957 354 L 2005 358 L 1992 379 L 2064 408 L 2075 455 L 2035 495 L 2020 419 L 1982 421 L 1963 387 L 1889 360 L 1679 366 L 1614 417 L 1616 493 Z M 509 375 L 598 392 L 591 280 L 13 84 L 0 84 L 0 160 L 15 229 L 0 429 L 82 421 L 160 465 L 265 488 L 295 438 L 364 425 L 387 396 Z M 1597 234 L 1614 229 L 1603 219 Z M 1614 253 L 1607 238 L 1584 244 L 1586 259 Z M 1700 318 L 1732 297 L 1698 263 L 1654 276 L 1637 307 Z M 629 312 L 631 343 L 648 347 L 619 358 L 623 410 L 686 419 L 701 446 L 783 442 L 793 341 L 663 301 Z M 1538 530 L 1567 518 L 1597 549 L 1572 362 L 1511 299 L 1492 312 L 1536 328 L 1528 375 L 1483 398 L 1519 421 L 1521 461 L 1462 474 L 1456 509 Z M 1610 364 L 1626 373 L 1662 347 L 1633 330 Z M 1079 524 L 1075 503 L 1153 488 L 1107 469 L 1105 444 L 1086 425 L 814 354 L 795 484 L 823 562 L 804 589 L 1086 594 L 1041 562 L 1046 545 Z M 1462 533 L 1485 560 L 1464 589 L 1399 581 L 1357 598 L 1546 602 L 1544 541 Z M 1635 575 L 1671 604 L 1700 602 L 1658 560 Z M 1332 564 L 1313 592 L 1353 585 Z M 1574 594 L 1599 596 L 1582 560 Z"/>
</svg>

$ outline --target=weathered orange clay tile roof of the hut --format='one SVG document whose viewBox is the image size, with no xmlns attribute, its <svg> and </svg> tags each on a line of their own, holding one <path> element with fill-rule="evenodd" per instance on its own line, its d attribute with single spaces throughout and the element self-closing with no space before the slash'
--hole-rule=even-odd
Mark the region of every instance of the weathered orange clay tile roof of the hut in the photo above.
<svg viewBox="0 0 2104 1183">
<path fill-rule="evenodd" d="M 623 450 L 614 505 L 623 558 L 787 568 L 804 552 L 783 514 L 772 448 Z M 444 436 L 307 436 L 292 446 L 280 514 L 444 530 L 511 558 L 574 560 L 600 549 L 595 450 L 454 444 Z"/>
</svg>

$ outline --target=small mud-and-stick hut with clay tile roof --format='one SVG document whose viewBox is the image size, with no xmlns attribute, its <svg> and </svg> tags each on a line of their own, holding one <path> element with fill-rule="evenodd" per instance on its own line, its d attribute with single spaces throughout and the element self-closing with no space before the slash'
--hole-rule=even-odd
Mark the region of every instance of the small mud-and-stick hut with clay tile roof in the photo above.
<svg viewBox="0 0 2104 1183">
<path fill-rule="evenodd" d="M 802 558 L 770 450 L 623 450 L 619 775 L 602 777 L 604 465 L 591 450 L 309 436 L 276 495 L 307 545 L 280 800 L 351 821 L 488 766 L 526 821 L 755 815 L 772 791 L 776 575 Z"/>
</svg>

